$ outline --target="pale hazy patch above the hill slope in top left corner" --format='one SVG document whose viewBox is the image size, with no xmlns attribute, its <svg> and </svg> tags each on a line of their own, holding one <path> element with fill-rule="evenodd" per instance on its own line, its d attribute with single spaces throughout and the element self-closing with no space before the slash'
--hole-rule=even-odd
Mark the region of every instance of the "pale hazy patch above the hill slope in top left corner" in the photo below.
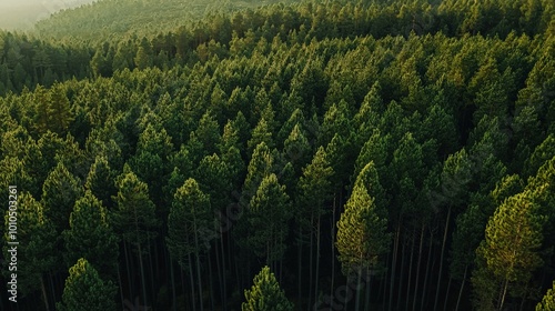
<svg viewBox="0 0 555 311">
<path fill-rule="evenodd" d="M 0 28 L 31 29 L 34 22 L 59 10 L 94 1 L 97 0 L 0 0 Z"/>
</svg>

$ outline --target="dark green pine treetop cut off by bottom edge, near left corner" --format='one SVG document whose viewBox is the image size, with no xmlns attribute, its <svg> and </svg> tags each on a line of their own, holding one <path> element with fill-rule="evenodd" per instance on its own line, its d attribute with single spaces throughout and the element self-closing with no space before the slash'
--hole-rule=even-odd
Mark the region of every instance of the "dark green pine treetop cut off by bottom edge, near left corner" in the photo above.
<svg viewBox="0 0 555 311">
<path fill-rule="evenodd" d="M 105 311 L 115 310 L 114 297 L 118 288 L 104 281 L 87 259 L 80 258 L 70 268 L 65 280 L 62 302 L 57 303 L 60 311 Z"/>
</svg>

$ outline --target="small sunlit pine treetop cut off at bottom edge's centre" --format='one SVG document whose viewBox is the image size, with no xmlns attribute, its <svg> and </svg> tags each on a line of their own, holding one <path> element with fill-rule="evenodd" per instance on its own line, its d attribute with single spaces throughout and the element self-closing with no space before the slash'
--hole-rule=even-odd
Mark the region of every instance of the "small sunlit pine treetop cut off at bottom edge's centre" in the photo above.
<svg viewBox="0 0 555 311">
<path fill-rule="evenodd" d="M 242 311 L 291 311 L 291 303 L 280 288 L 270 268 L 264 267 L 254 277 L 254 284 L 244 291 L 246 302 L 241 305 Z"/>
</svg>

